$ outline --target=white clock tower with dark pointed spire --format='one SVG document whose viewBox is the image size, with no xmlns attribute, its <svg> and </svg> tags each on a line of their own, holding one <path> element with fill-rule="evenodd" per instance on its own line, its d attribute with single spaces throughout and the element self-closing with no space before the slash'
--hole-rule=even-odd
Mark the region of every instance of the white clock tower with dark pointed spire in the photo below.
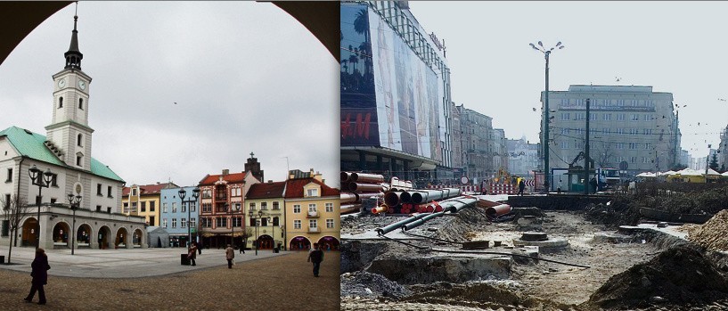
<svg viewBox="0 0 728 311">
<path fill-rule="evenodd" d="M 91 77 L 81 71 L 84 58 L 78 50 L 78 16 L 73 17 L 66 67 L 53 75 L 53 119 L 45 127 L 45 145 L 66 165 L 91 170 L 91 134 L 88 127 L 88 90 Z"/>
</svg>

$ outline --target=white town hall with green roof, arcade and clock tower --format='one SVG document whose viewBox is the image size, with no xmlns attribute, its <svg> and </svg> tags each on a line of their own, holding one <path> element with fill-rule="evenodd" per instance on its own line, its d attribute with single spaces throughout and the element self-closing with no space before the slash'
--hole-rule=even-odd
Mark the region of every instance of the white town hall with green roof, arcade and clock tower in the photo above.
<svg viewBox="0 0 728 311">
<path fill-rule="evenodd" d="M 7 245 L 14 237 L 13 246 L 45 249 L 147 247 L 144 217 L 119 210 L 124 180 L 92 157 L 92 78 L 81 70 L 77 23 L 74 16 L 65 67 L 53 75 L 52 118 L 45 136 L 21 127 L 0 131 L 0 217 L 5 216 L 0 242 Z M 19 227 L 11 233 L 8 216 L 17 210 L 8 208 L 15 198 L 28 208 L 18 214 Z M 78 207 L 75 213 L 71 206 Z"/>
</svg>

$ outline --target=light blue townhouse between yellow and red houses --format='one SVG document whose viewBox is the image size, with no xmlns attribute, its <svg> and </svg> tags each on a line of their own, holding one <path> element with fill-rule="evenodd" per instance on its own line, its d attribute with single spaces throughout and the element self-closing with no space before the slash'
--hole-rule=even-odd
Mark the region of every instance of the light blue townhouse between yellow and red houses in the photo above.
<svg viewBox="0 0 728 311">
<path fill-rule="evenodd" d="M 186 247 L 190 241 L 188 233 L 192 236 L 192 241 L 198 241 L 198 217 L 200 206 L 200 198 L 194 200 L 192 191 L 195 187 L 176 187 L 162 189 L 160 193 L 161 209 L 160 209 L 160 226 L 169 233 L 170 247 Z M 179 191 L 184 189 L 184 203 L 179 197 Z M 154 241 L 151 241 L 154 245 Z"/>
</svg>

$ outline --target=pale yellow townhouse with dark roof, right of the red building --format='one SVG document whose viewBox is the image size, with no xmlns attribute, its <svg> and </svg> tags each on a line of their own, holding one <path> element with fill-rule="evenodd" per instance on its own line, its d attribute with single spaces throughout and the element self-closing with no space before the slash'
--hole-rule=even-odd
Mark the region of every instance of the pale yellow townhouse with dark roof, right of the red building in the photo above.
<svg viewBox="0 0 728 311">
<path fill-rule="evenodd" d="M 251 234 L 246 243 L 247 248 L 254 249 L 258 245 L 258 250 L 272 250 L 274 247 L 287 249 L 283 199 L 285 186 L 286 182 L 273 181 L 253 184 L 245 195 L 247 231 Z"/>
</svg>

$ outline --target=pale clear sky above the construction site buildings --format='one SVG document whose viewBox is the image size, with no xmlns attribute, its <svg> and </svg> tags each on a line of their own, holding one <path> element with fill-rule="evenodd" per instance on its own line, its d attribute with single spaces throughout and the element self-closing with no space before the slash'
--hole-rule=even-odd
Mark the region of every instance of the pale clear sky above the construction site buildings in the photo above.
<svg viewBox="0 0 728 311">
<path fill-rule="evenodd" d="M 704 157 L 728 124 L 725 2 L 414 2 L 428 33 L 445 39 L 452 98 L 493 118 L 508 138 L 538 141 L 544 54 L 550 90 L 653 86 L 680 105 L 682 147 Z M 617 82 L 617 78 L 620 81 Z M 687 107 L 683 108 L 683 105 Z M 508 109 L 504 109 L 508 107 Z M 700 123 L 700 125 L 698 125 Z"/>
</svg>

